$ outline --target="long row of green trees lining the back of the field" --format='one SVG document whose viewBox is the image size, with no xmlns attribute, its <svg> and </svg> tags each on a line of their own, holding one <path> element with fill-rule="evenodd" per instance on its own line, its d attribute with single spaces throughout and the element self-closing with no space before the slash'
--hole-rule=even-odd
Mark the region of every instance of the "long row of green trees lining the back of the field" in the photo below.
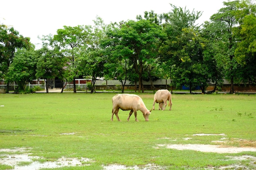
<svg viewBox="0 0 256 170">
<path fill-rule="evenodd" d="M 88 76 L 92 86 L 97 77 L 122 83 L 129 79 L 139 82 L 140 92 L 142 80 L 171 78 L 172 85 L 200 86 L 204 93 L 210 81 L 217 87 L 226 78 L 233 93 L 234 83 L 256 81 L 256 4 L 249 0 L 223 4 L 203 27 L 196 24 L 201 11 L 172 4 L 168 13 L 145 11 L 136 21 L 106 25 L 97 17 L 94 26 L 63 26 L 56 35 L 43 36 L 43 47 L 36 52 L 17 50 L 32 49 L 29 38 L 0 25 L 0 79 L 16 81 L 25 91 L 36 69 L 36 78 L 74 82 Z M 32 56 L 36 68 L 31 67 Z"/>
</svg>

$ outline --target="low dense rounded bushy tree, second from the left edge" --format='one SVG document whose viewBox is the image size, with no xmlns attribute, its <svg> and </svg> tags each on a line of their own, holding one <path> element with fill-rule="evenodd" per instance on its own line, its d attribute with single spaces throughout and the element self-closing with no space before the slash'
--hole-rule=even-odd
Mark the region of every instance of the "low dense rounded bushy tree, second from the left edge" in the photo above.
<svg viewBox="0 0 256 170">
<path fill-rule="evenodd" d="M 27 84 L 36 79 L 36 61 L 34 49 L 18 49 L 15 53 L 6 79 L 7 82 L 16 82 L 18 84 L 18 92 L 26 92 Z"/>
</svg>

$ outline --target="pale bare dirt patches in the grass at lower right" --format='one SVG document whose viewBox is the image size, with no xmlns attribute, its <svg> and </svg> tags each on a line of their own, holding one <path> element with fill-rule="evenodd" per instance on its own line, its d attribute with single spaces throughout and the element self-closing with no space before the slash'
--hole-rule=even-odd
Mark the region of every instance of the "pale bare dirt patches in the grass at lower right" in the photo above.
<svg viewBox="0 0 256 170">
<path fill-rule="evenodd" d="M 253 140 L 245 140 L 245 139 L 229 139 L 225 137 L 225 134 L 194 134 L 192 137 L 180 138 L 183 140 L 190 140 L 193 136 L 223 136 L 222 138 L 211 141 L 216 145 L 204 145 L 204 144 L 158 144 L 155 148 L 170 148 L 176 150 L 195 150 L 200 152 L 216 152 L 220 154 L 230 154 L 230 153 L 239 153 L 239 152 L 256 152 L 256 141 Z M 161 138 L 161 139 L 169 139 L 170 141 L 177 141 L 177 139 L 172 140 L 171 138 Z M 238 146 L 238 147 L 234 147 Z M 229 166 L 221 166 L 221 167 L 209 167 L 209 170 L 256 170 L 256 157 L 250 155 L 243 155 L 238 157 L 227 156 L 229 159 L 234 159 L 238 161 L 248 160 L 248 164 L 240 162 L 238 164 L 233 164 Z"/>
</svg>

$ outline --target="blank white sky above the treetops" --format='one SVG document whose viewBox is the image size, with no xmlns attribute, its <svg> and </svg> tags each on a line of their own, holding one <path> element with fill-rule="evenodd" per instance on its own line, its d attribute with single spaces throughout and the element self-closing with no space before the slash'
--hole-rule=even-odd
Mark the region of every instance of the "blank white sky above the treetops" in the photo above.
<svg viewBox="0 0 256 170">
<path fill-rule="evenodd" d="M 64 25 L 93 25 L 97 15 L 106 24 L 136 20 L 144 11 L 167 13 L 170 4 L 202 11 L 198 22 L 203 23 L 223 7 L 223 1 L 227 0 L 0 0 L 0 24 L 13 26 L 36 45 L 41 43 L 38 36 L 54 35 Z"/>
</svg>

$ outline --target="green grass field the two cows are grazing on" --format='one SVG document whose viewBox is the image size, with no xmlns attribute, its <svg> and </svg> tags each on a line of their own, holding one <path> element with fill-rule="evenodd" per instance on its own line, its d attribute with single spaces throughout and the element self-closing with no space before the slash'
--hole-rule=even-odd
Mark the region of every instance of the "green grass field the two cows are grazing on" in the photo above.
<svg viewBox="0 0 256 170">
<path fill-rule="evenodd" d="M 171 111 L 168 106 L 164 111 L 152 110 L 149 121 L 138 111 L 139 122 L 134 115 L 126 121 L 129 111 L 122 110 L 119 110 L 121 122 L 115 116 L 110 121 L 114 95 L 0 94 L 0 149 L 25 148 L 29 155 L 40 157 L 33 160 L 39 162 L 61 157 L 91 160 L 89 165 L 55 168 L 58 170 L 100 170 L 108 165 L 143 168 L 148 164 L 166 170 L 204 170 L 237 163 L 256 169 L 249 160 L 227 157 L 256 157 L 256 152 L 215 153 L 158 147 L 209 144 L 256 148 L 256 95 L 174 94 Z M 154 94 L 138 95 L 150 110 Z M 212 142 L 220 140 L 225 142 Z M 0 159 L 4 159 L 4 154 L 9 152 L 0 152 Z M 0 170 L 11 168 L 0 164 Z"/>
</svg>

